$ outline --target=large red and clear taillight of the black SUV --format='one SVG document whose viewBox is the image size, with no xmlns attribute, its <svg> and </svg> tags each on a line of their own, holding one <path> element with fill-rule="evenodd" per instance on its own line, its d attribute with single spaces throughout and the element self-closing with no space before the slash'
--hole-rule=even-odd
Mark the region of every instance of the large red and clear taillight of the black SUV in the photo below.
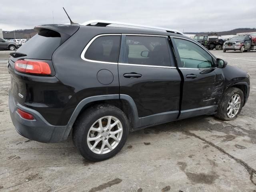
<svg viewBox="0 0 256 192">
<path fill-rule="evenodd" d="M 50 75 L 51 69 L 48 63 L 43 61 L 17 60 L 15 69 L 18 72 Z"/>
</svg>

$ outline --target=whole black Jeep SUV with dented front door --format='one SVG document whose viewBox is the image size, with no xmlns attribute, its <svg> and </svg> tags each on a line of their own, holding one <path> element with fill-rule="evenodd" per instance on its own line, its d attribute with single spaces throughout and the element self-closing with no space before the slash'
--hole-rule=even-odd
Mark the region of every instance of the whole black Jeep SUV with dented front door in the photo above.
<svg viewBox="0 0 256 192">
<path fill-rule="evenodd" d="M 240 113 L 250 91 L 245 71 L 181 32 L 112 24 L 37 26 L 11 54 L 9 107 L 19 134 L 62 142 L 72 130 L 82 156 L 100 161 L 130 131 Z"/>
</svg>

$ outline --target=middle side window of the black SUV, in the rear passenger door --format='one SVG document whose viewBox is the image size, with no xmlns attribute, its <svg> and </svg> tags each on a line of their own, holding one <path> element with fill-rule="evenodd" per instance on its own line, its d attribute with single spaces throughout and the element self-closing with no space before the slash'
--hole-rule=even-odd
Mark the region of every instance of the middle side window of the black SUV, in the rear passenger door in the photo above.
<svg viewBox="0 0 256 192">
<path fill-rule="evenodd" d="M 170 66 L 165 37 L 126 36 L 124 63 Z"/>
</svg>

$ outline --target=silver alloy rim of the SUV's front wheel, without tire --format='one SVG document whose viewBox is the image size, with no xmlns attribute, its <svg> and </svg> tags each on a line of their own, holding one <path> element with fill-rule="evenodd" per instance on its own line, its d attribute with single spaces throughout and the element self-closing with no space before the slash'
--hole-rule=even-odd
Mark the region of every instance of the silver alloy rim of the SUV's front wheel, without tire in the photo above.
<svg viewBox="0 0 256 192">
<path fill-rule="evenodd" d="M 241 105 L 240 95 L 234 94 L 228 102 L 227 115 L 229 118 L 233 118 L 234 116 L 236 116 L 236 114 L 238 114 L 240 105 Z"/>
</svg>

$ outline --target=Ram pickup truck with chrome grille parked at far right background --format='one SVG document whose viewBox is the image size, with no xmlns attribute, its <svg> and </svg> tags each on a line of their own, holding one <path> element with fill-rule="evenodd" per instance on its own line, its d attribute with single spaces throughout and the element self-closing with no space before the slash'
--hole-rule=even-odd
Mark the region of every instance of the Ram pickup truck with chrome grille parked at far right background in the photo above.
<svg viewBox="0 0 256 192">
<path fill-rule="evenodd" d="M 256 37 L 251 35 L 234 36 L 224 43 L 223 52 L 228 50 L 240 50 L 241 53 L 256 50 Z"/>
</svg>

